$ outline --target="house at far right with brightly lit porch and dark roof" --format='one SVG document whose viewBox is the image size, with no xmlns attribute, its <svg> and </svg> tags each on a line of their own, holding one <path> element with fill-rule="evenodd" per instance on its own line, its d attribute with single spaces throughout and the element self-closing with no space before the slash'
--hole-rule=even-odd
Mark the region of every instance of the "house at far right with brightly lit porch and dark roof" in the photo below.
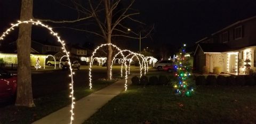
<svg viewBox="0 0 256 124">
<path fill-rule="evenodd" d="M 251 69 L 256 69 L 256 16 L 237 21 L 196 44 L 196 71 L 201 71 L 204 66 L 210 72 L 213 72 L 214 67 L 221 67 L 222 72 L 237 75 L 238 61 L 242 60 L 250 60 L 247 64 L 251 65 Z M 239 68 L 239 72 L 245 73 L 245 67 Z"/>
</svg>

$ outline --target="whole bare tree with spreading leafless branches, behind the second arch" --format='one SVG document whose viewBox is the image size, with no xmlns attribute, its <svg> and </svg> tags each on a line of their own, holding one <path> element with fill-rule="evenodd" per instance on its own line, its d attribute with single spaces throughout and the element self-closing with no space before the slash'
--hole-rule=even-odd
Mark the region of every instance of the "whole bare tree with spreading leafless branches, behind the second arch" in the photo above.
<svg viewBox="0 0 256 124">
<path fill-rule="evenodd" d="M 61 28 L 69 28 L 69 29 L 74 29 L 78 31 L 89 32 L 91 34 L 102 37 L 106 43 L 112 43 L 111 42 L 112 37 L 116 37 L 116 36 L 122 36 L 122 37 L 133 38 L 133 39 L 146 38 L 150 34 L 151 30 L 153 29 L 151 28 L 151 30 L 148 31 L 148 33 L 145 34 L 145 36 L 142 36 L 139 38 L 138 34 L 135 34 L 134 32 L 130 34 L 130 32 L 127 31 L 127 29 L 129 28 L 124 26 L 124 24 L 121 24 L 122 22 L 124 22 L 124 20 L 130 20 L 130 21 L 138 22 L 140 24 L 145 24 L 132 18 L 132 16 L 140 14 L 137 10 L 131 9 L 131 6 L 133 5 L 134 0 L 131 0 L 126 7 L 123 7 L 121 9 L 117 9 L 118 5 L 121 3 L 121 0 L 99 0 L 99 1 L 89 0 L 88 3 L 84 3 L 84 1 L 79 1 L 79 0 L 72 0 L 72 2 L 73 2 L 73 6 L 65 5 L 65 4 L 63 5 L 68 6 L 70 9 L 77 11 L 78 13 L 77 20 L 74 20 L 74 21 L 41 20 L 41 21 L 49 21 L 53 23 L 78 22 L 82 20 L 93 21 L 98 25 L 98 28 L 99 28 L 96 31 L 79 28 L 79 26 L 78 27 L 61 27 Z M 81 18 L 82 15 L 85 17 Z M 107 55 L 107 79 L 110 79 L 110 65 L 111 65 L 112 55 L 113 55 L 113 49 L 109 45 L 108 55 Z"/>
</svg>

